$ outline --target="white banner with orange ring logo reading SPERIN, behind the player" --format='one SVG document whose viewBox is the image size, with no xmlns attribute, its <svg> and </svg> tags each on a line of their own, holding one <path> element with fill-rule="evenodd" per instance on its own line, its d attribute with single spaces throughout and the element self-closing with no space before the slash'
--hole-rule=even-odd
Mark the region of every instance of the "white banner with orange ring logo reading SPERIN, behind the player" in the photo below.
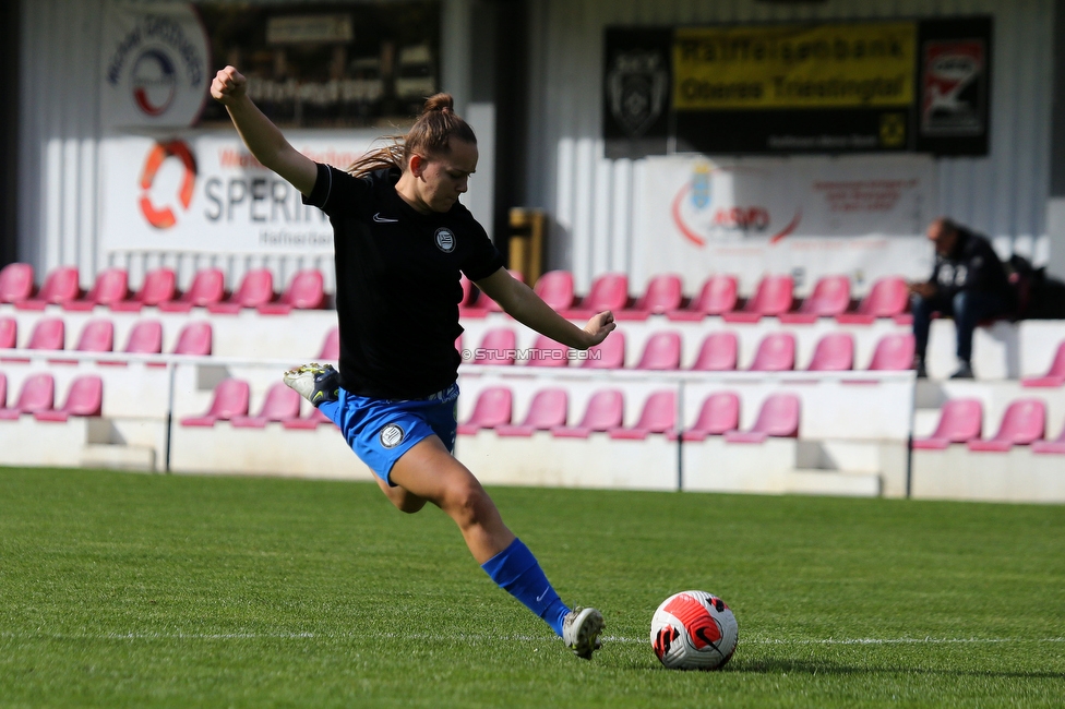
<svg viewBox="0 0 1065 709">
<path fill-rule="evenodd" d="M 311 159 L 346 168 L 376 135 L 294 132 Z M 333 229 L 232 131 L 184 137 L 112 136 L 100 146 L 106 251 L 328 253 Z"/>
</svg>

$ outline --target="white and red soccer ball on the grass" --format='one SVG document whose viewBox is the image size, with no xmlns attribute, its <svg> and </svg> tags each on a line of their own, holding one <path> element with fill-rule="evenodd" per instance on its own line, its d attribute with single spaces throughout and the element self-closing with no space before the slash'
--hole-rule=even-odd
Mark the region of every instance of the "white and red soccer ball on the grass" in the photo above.
<svg viewBox="0 0 1065 709">
<path fill-rule="evenodd" d="M 670 596 L 650 621 L 650 646 L 670 670 L 718 670 L 732 657 L 738 639 L 732 611 L 706 591 Z"/>
</svg>

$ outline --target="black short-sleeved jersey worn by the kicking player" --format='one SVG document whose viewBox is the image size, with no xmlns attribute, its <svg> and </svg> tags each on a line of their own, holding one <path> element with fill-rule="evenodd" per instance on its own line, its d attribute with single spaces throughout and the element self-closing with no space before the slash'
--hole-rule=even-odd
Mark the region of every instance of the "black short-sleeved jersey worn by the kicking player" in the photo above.
<svg viewBox="0 0 1065 709">
<path fill-rule="evenodd" d="M 398 179 L 398 170 L 356 178 L 319 165 L 303 203 L 333 224 L 340 386 L 415 399 L 458 376 L 459 272 L 484 278 L 503 256 L 465 206 L 419 214 L 396 193 Z"/>
</svg>

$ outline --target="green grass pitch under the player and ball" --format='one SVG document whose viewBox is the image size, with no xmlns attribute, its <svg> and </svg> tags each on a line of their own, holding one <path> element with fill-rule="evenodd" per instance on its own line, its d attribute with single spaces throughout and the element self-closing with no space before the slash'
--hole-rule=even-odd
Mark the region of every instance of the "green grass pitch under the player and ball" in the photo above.
<svg viewBox="0 0 1065 709">
<path fill-rule="evenodd" d="M 1065 474 L 1065 472 L 1063 472 Z M 495 488 L 574 658 L 440 510 L 373 484 L 0 470 L 3 707 L 863 707 L 1065 702 L 1065 508 Z M 735 612 L 661 668 L 667 596 Z"/>
</svg>

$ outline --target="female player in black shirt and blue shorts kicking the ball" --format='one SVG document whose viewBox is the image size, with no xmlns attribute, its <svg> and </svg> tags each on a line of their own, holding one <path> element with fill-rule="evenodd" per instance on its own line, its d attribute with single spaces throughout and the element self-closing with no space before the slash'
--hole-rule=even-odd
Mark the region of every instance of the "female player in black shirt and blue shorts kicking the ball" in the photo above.
<svg viewBox="0 0 1065 709">
<path fill-rule="evenodd" d="M 251 101 L 232 67 L 211 95 L 226 106 L 252 155 L 288 180 L 333 225 L 339 372 L 308 364 L 285 382 L 328 416 L 406 513 L 426 502 L 462 530 L 493 581 L 541 617 L 581 658 L 599 647 L 602 614 L 571 611 L 539 563 L 506 528 L 494 503 L 455 457 L 455 400 L 462 333 L 459 272 L 515 320 L 577 349 L 614 328 L 599 313 L 584 327 L 512 278 L 488 235 L 459 202 L 477 167 L 477 139 L 447 94 L 426 101 L 402 143 L 348 171 L 298 153 Z"/>
</svg>

